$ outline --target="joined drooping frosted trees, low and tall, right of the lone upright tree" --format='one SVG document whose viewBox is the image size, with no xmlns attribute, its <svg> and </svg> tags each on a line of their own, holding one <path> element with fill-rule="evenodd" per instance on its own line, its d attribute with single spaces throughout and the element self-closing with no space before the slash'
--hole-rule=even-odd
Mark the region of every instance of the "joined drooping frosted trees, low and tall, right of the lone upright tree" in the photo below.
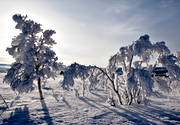
<svg viewBox="0 0 180 125">
<path fill-rule="evenodd" d="M 72 70 L 72 65 L 69 66 L 65 71 L 62 86 L 73 86 L 70 83 L 74 83 L 72 82 L 73 79 L 79 77 L 83 78 L 83 81 L 87 79 L 89 87 L 91 87 L 91 84 L 108 84 L 111 88 L 110 91 L 116 95 L 119 104 L 130 105 L 133 101 L 140 103 L 145 100 L 145 97 L 157 93 L 157 91 L 153 90 L 155 86 L 160 91 L 169 92 L 173 89 L 174 84 L 179 84 L 180 67 L 178 55 L 179 52 L 175 55 L 172 54 L 164 41 L 152 43 L 149 36 L 144 35 L 133 41 L 131 45 L 121 47 L 109 59 L 109 64 L 105 69 L 96 66 L 85 67 L 78 65 L 77 67 L 84 68 L 80 68 L 81 70 L 74 68 Z M 75 65 L 77 64 L 75 63 Z M 122 69 L 123 74 L 116 72 L 118 68 Z M 168 73 L 156 74 L 153 77 L 155 69 L 159 69 L 158 72 L 160 73 Z M 91 80 L 91 74 L 94 72 L 99 72 L 93 76 L 96 79 L 95 82 Z M 68 78 L 72 78 L 71 82 L 66 82 L 69 80 Z"/>
</svg>

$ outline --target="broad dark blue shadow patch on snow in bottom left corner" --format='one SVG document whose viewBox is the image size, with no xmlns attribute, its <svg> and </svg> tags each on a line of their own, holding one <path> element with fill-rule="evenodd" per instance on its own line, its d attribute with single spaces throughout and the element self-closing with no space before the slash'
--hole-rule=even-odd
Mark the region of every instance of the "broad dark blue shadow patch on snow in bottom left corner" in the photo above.
<svg viewBox="0 0 180 125">
<path fill-rule="evenodd" d="M 24 109 L 16 108 L 11 112 L 8 119 L 3 119 L 3 125 L 32 125 L 34 121 L 29 116 L 29 109 L 25 105 Z"/>
</svg>

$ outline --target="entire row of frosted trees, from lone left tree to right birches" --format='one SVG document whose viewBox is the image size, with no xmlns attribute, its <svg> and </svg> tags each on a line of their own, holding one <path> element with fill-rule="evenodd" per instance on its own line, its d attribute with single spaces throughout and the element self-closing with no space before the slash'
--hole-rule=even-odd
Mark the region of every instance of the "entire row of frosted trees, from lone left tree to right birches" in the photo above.
<svg viewBox="0 0 180 125">
<path fill-rule="evenodd" d="M 43 30 L 41 25 L 27 19 L 27 16 L 14 15 L 16 29 L 21 33 L 13 38 L 7 51 L 13 56 L 12 64 L 4 82 L 19 93 L 29 92 L 37 81 L 40 99 L 43 99 L 41 81 L 50 77 L 55 78 L 62 65 L 57 63 L 58 58 L 51 49 L 56 42 L 51 38 L 54 30 Z M 152 73 L 157 67 L 165 67 L 168 75 L 154 76 Z M 121 69 L 121 73 L 117 72 Z M 161 70 L 163 68 L 160 68 Z M 159 71 L 163 72 L 163 71 Z M 121 47 L 109 59 L 106 68 L 84 66 L 78 63 L 71 64 L 61 72 L 64 79 L 61 86 L 69 90 L 74 85 L 74 79 L 82 81 L 83 96 L 85 90 L 91 91 L 97 85 L 110 88 L 119 104 L 140 103 L 145 97 L 154 93 L 153 88 L 171 91 L 172 84 L 180 81 L 180 51 L 172 54 L 165 42 L 150 41 L 149 35 L 143 35 L 131 45 Z"/>
</svg>

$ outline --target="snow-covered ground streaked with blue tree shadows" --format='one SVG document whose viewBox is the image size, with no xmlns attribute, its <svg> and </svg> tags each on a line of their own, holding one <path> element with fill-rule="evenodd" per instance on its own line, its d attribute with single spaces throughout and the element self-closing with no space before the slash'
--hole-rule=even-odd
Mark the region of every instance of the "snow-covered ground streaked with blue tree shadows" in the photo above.
<svg viewBox="0 0 180 125">
<path fill-rule="evenodd" d="M 112 107 L 106 103 L 108 92 L 92 91 L 77 98 L 72 91 L 60 88 L 60 77 L 48 80 L 39 100 L 36 90 L 20 96 L 9 85 L 3 84 L 4 73 L 0 73 L 0 94 L 9 109 L 0 100 L 0 124 L 180 124 L 180 95 L 150 98 L 144 104 Z"/>
</svg>

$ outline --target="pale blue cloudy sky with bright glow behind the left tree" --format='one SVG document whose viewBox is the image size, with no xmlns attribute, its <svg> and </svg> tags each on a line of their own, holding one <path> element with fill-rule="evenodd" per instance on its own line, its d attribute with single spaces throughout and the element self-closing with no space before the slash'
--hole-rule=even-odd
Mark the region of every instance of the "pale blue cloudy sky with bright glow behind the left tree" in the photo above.
<svg viewBox="0 0 180 125">
<path fill-rule="evenodd" d="M 27 14 L 44 29 L 54 29 L 54 50 L 64 64 L 106 66 L 121 46 L 140 35 L 180 47 L 179 0 L 1 0 L 0 63 L 13 59 L 5 51 L 18 34 L 13 14 Z"/>
</svg>

